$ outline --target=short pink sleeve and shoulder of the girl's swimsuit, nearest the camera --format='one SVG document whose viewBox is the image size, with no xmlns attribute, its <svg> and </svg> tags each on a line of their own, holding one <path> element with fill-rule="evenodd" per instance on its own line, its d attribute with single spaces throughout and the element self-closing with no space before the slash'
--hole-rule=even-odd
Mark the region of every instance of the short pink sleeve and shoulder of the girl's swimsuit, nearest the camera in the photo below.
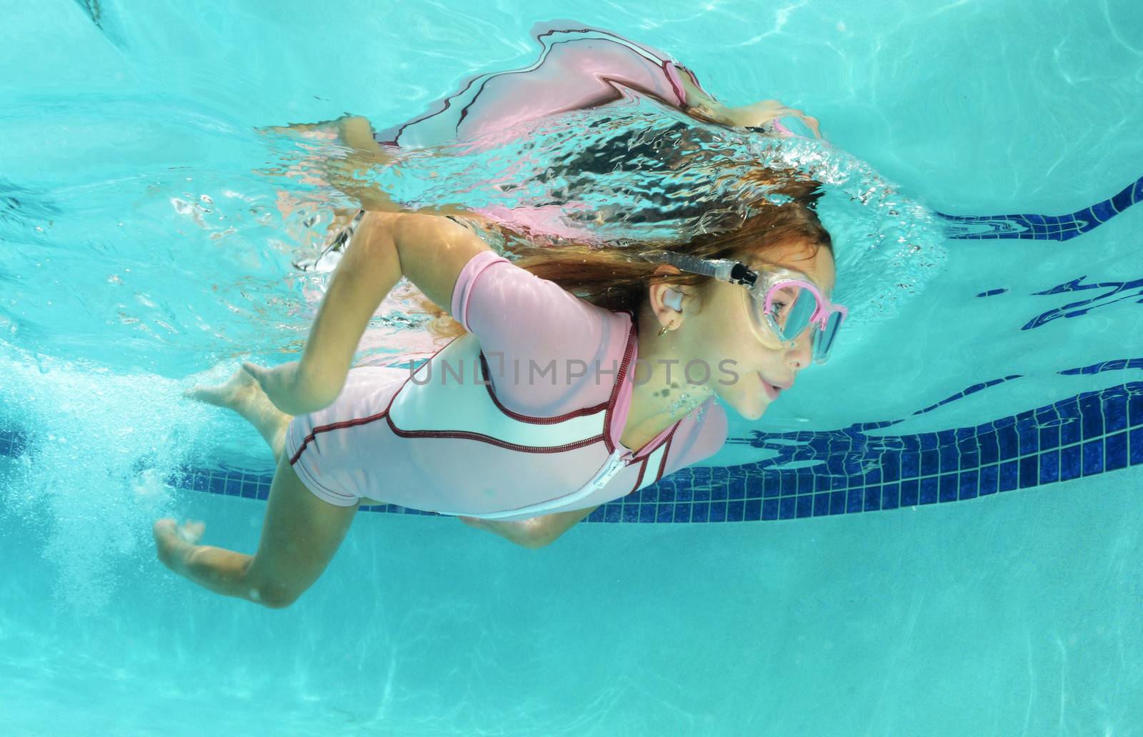
<svg viewBox="0 0 1143 737">
<path fill-rule="evenodd" d="M 607 401 L 630 325 L 491 250 L 461 270 L 451 315 L 480 342 L 497 398 L 537 416 Z"/>
</svg>

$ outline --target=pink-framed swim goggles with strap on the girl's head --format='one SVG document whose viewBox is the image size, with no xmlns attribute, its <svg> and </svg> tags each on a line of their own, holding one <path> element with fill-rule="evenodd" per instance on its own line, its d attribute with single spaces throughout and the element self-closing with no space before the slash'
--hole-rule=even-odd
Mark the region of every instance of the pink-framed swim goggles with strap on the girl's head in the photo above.
<svg viewBox="0 0 1143 737">
<path fill-rule="evenodd" d="M 645 257 L 693 274 L 742 285 L 748 290 L 744 294 L 750 295 L 746 306 L 754 335 L 762 342 L 777 337 L 786 347 L 793 347 L 802 333 L 810 330 L 816 363 L 825 363 L 830 358 L 838 329 L 849 314 L 842 305 L 830 302 L 809 277 L 790 269 L 758 272 L 729 258 L 698 258 L 666 250 L 649 251 Z"/>
</svg>

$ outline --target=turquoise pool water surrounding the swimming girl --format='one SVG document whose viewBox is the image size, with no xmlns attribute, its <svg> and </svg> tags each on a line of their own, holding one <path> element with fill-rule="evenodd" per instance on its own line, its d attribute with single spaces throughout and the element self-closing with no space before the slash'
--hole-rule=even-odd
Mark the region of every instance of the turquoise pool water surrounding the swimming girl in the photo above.
<svg viewBox="0 0 1143 737">
<path fill-rule="evenodd" d="M 328 208 L 281 215 L 253 128 L 406 120 L 527 65 L 531 26 L 569 16 L 727 103 L 810 112 L 934 211 L 1021 216 L 942 218 L 943 257 L 896 298 L 877 296 L 900 274 L 847 243 L 842 280 L 872 296 L 829 367 L 733 420 L 708 466 L 551 547 L 361 514 L 290 609 L 175 579 L 151 521 L 251 550 L 270 471 L 253 430 L 179 390 L 219 361 L 286 360 L 327 278 L 294 264 Z M 6 732 L 1140 732 L 1137 3 L 3 17 Z M 376 321 L 367 347 L 417 347 L 401 327 Z"/>
</svg>

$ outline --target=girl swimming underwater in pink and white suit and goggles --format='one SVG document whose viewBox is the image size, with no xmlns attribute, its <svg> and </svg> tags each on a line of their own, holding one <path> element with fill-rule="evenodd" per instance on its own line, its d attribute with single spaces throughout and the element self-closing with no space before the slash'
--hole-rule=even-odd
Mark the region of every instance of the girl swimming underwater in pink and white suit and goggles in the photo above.
<svg viewBox="0 0 1143 737">
<path fill-rule="evenodd" d="M 696 98 L 714 110 L 697 83 L 678 104 Z M 398 143 L 360 118 L 310 128 L 374 160 L 385 157 L 376 138 Z M 451 217 L 401 211 L 376 187 L 343 183 L 366 211 L 301 360 L 246 363 L 226 384 L 191 392 L 247 418 L 278 458 L 257 551 L 199 545 L 202 523 L 162 519 L 160 560 L 211 591 L 287 607 L 362 503 L 456 515 L 539 547 L 600 504 L 713 455 L 727 435 L 714 400 L 757 419 L 825 361 L 846 315 L 829 299 L 817 183 L 765 176 L 784 203 L 733 230 L 666 248 L 535 248 L 515 262 Z M 447 305 L 463 334 L 411 372 L 351 369 L 402 277 Z"/>
</svg>

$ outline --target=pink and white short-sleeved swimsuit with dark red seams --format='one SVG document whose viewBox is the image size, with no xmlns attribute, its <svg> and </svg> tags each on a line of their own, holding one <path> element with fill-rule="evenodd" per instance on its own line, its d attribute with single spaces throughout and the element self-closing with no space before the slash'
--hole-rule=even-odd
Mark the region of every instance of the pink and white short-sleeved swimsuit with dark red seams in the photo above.
<svg viewBox="0 0 1143 737">
<path fill-rule="evenodd" d="M 517 520 L 620 498 L 713 455 L 713 398 L 632 451 L 620 442 L 637 326 L 487 250 L 461 271 L 469 330 L 416 371 L 360 367 L 329 407 L 290 422 L 302 482 L 358 502 Z M 547 369 L 547 370 L 544 370 Z"/>
</svg>

